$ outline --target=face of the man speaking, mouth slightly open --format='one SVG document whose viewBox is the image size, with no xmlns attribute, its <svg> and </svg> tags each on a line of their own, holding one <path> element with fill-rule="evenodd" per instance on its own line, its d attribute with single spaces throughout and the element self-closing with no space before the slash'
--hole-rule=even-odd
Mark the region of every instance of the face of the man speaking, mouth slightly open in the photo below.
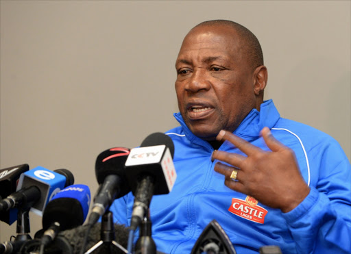
<svg viewBox="0 0 351 254">
<path fill-rule="evenodd" d="M 215 140 L 256 107 L 254 75 L 232 27 L 196 27 L 184 38 L 175 68 L 178 107 L 193 134 Z"/>
</svg>

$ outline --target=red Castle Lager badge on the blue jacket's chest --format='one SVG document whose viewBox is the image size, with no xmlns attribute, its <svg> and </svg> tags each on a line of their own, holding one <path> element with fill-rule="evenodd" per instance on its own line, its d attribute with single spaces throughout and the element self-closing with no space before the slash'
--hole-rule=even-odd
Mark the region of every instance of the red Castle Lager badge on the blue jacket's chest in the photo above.
<svg viewBox="0 0 351 254">
<path fill-rule="evenodd" d="M 246 196 L 245 201 L 233 198 L 232 205 L 230 205 L 228 211 L 241 218 L 263 224 L 265 223 L 265 216 L 268 211 L 257 204 L 258 201 L 252 196 Z"/>
</svg>

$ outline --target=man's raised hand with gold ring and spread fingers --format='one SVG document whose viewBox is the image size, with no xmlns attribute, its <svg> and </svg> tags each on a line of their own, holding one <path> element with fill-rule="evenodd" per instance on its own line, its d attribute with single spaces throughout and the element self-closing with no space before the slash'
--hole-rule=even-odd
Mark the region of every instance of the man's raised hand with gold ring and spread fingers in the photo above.
<svg viewBox="0 0 351 254">
<path fill-rule="evenodd" d="M 215 171 L 226 177 L 224 184 L 228 188 L 253 196 L 269 207 L 289 212 L 306 198 L 310 190 L 302 178 L 295 153 L 276 140 L 267 127 L 262 129 L 261 135 L 271 151 L 263 151 L 228 131 L 220 131 L 217 140 L 228 140 L 247 157 L 216 150 L 212 160 L 231 166 L 217 162 Z M 230 178 L 231 175 L 234 179 Z"/>
</svg>

